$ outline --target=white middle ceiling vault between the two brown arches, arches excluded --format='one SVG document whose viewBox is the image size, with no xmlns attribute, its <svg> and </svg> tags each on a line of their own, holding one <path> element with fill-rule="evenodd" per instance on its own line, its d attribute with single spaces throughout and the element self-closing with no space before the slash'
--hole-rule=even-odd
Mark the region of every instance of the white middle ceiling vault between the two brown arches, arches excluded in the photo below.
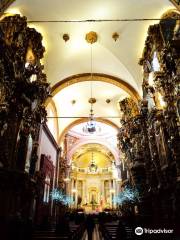
<svg viewBox="0 0 180 240">
<path fill-rule="evenodd" d="M 121 114 L 118 102 L 129 95 L 110 83 L 79 82 L 62 89 L 52 98 L 57 108 L 57 115 L 61 117 L 58 119 L 60 134 L 77 118 L 88 118 L 91 84 L 92 96 L 96 98 L 96 103 L 93 104 L 94 116 L 108 119 L 117 126 L 120 125 L 119 117 Z M 106 102 L 108 99 L 109 103 Z"/>
</svg>

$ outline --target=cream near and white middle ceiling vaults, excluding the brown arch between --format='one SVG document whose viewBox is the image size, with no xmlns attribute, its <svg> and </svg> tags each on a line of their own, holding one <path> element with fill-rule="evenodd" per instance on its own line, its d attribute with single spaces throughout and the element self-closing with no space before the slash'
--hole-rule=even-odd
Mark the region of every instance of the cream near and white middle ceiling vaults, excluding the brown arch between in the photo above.
<svg viewBox="0 0 180 240">
<path fill-rule="evenodd" d="M 29 26 L 35 27 L 43 35 L 46 48 L 43 63 L 51 86 L 72 75 L 90 73 L 92 70 L 93 73 L 121 79 L 141 95 L 142 69 L 138 60 L 142 55 L 148 26 L 158 21 L 133 19 L 160 18 L 170 8 L 174 6 L 169 0 L 16 0 L 7 12 L 19 12 L 28 21 L 34 21 Z M 133 21 L 65 22 L 89 19 Z M 97 42 L 92 45 L 92 58 L 91 46 L 85 40 L 89 31 L 95 31 L 98 35 Z M 114 32 L 119 34 L 117 41 L 112 38 Z M 67 42 L 63 40 L 65 33 L 70 37 Z M 98 79 L 95 81 L 95 114 L 118 116 L 118 100 L 128 96 L 127 92 L 113 84 L 99 83 Z M 88 116 L 88 84 L 67 85 L 53 97 L 58 116 Z M 110 99 L 111 103 L 107 104 L 106 99 Z M 74 105 L 73 100 L 76 101 Z M 110 120 L 119 125 L 119 119 Z M 60 133 L 73 121 L 73 118 L 61 119 Z"/>
</svg>

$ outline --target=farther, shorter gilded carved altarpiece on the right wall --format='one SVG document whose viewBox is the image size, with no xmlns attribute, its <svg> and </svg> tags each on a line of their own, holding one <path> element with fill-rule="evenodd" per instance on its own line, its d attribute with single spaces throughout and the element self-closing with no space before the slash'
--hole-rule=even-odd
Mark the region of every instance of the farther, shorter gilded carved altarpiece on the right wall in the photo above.
<svg viewBox="0 0 180 240">
<path fill-rule="evenodd" d="M 140 192 L 140 202 L 137 203 L 142 217 L 151 217 L 151 156 L 147 133 L 147 109 L 144 105 L 139 112 L 132 100 L 120 102 L 123 111 L 122 127 L 119 131 L 119 145 L 125 154 L 133 184 Z M 133 111 L 134 108 L 134 111 Z M 146 106 L 147 108 L 147 106 Z"/>
</svg>

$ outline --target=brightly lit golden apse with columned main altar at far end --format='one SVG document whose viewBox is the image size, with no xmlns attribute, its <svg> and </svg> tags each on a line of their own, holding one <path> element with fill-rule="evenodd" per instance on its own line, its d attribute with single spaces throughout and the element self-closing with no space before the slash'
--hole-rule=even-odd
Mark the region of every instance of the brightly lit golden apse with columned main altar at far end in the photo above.
<svg viewBox="0 0 180 240">
<path fill-rule="evenodd" d="M 69 173 L 70 182 L 76 181 L 70 191 L 75 196 L 75 205 L 81 198 L 86 212 L 115 206 L 113 194 L 120 179 L 115 165 L 115 156 L 105 145 L 89 142 L 78 146 L 72 154 Z"/>
</svg>

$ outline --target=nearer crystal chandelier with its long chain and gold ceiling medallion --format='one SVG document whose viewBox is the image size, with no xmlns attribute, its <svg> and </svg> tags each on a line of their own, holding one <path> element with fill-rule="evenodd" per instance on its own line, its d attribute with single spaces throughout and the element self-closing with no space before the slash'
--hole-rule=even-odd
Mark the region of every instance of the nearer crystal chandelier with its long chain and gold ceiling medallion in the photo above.
<svg viewBox="0 0 180 240">
<path fill-rule="evenodd" d="M 97 41 L 97 34 L 95 32 L 89 32 L 86 34 L 86 41 L 91 44 L 91 79 L 90 79 L 90 90 L 91 90 L 91 97 L 89 99 L 89 103 L 91 104 L 89 120 L 86 125 L 83 127 L 83 132 L 93 134 L 95 132 L 100 132 L 101 129 L 97 126 L 97 123 L 94 118 L 93 113 L 93 104 L 96 103 L 96 99 L 93 98 L 92 94 L 92 82 L 93 82 L 93 73 L 92 73 L 92 44 Z"/>
</svg>

